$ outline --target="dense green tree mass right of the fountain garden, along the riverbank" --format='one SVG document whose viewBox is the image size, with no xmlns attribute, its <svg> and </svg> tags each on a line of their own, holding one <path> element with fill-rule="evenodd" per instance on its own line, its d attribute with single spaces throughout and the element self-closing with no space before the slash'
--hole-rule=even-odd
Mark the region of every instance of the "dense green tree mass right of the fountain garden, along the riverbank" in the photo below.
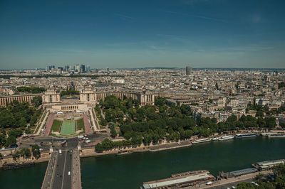
<svg viewBox="0 0 285 189">
<path fill-rule="evenodd" d="M 100 101 L 100 107 L 109 125 L 115 124 L 130 144 L 140 145 L 158 143 L 164 139 L 178 141 L 190 139 L 192 135 L 208 137 L 215 132 L 233 131 L 238 129 L 258 129 L 276 126 L 274 117 L 242 116 L 239 120 L 232 115 L 227 121 L 217 123 L 217 119 L 203 117 L 195 121 L 186 105 L 168 107 L 165 99 L 155 98 L 155 106 L 140 107 L 133 99 L 118 99 L 108 96 Z M 96 107 L 99 112 L 99 107 Z M 112 129 L 112 136 L 117 134 Z M 129 144 L 128 143 L 128 144 Z M 100 148 L 104 145 L 98 144 Z M 98 147 L 97 146 L 97 147 Z"/>
</svg>

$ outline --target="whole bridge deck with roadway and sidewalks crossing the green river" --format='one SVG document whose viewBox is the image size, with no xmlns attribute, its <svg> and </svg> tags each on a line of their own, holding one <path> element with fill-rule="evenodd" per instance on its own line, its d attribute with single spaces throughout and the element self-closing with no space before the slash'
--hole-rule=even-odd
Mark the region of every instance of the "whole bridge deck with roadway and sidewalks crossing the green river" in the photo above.
<svg viewBox="0 0 285 189">
<path fill-rule="evenodd" d="M 81 189 L 81 164 L 77 149 L 51 153 L 41 188 Z"/>
</svg>

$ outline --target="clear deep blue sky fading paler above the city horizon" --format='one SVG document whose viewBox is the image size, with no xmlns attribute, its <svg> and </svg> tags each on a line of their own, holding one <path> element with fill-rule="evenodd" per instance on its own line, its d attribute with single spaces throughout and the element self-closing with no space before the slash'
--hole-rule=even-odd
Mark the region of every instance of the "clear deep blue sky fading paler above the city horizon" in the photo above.
<svg viewBox="0 0 285 189">
<path fill-rule="evenodd" d="M 284 0 L 0 0 L 0 70 L 285 68 L 284 9 Z"/>
</svg>

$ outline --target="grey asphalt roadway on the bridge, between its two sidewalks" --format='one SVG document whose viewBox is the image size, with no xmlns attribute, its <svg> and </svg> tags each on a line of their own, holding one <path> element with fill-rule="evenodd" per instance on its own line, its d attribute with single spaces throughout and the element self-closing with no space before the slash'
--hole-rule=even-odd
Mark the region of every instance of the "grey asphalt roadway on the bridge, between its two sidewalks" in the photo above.
<svg viewBox="0 0 285 189">
<path fill-rule="evenodd" d="M 62 151 L 58 155 L 55 173 L 53 173 L 53 189 L 71 188 L 72 153 L 69 150 Z M 68 175 L 68 172 L 70 174 Z"/>
</svg>

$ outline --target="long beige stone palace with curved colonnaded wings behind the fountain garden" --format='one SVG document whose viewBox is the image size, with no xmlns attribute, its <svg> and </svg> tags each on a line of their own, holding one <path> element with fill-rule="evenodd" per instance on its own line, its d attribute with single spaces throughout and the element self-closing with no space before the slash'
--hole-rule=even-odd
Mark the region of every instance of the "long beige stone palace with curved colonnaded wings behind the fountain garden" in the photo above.
<svg viewBox="0 0 285 189">
<path fill-rule="evenodd" d="M 139 91 L 104 91 L 98 92 L 88 87 L 80 92 L 78 99 L 61 99 L 61 95 L 55 90 L 47 90 L 42 94 L 27 94 L 27 95 L 8 95 L 0 97 L 0 107 L 6 107 L 6 104 L 13 102 L 28 102 L 31 103 L 33 97 L 41 96 L 43 99 L 43 106 L 56 111 L 73 111 L 73 110 L 87 110 L 109 95 L 114 95 L 120 99 L 132 98 L 137 99 L 141 106 L 147 104 L 155 104 L 155 95 L 153 92 L 139 92 Z"/>
</svg>

